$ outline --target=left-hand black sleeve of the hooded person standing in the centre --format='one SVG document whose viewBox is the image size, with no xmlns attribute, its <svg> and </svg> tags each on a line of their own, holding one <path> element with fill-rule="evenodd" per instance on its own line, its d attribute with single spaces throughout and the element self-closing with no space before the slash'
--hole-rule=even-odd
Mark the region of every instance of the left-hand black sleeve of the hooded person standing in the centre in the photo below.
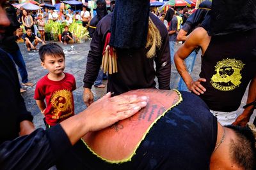
<svg viewBox="0 0 256 170">
<path fill-rule="evenodd" d="M 101 22 L 102 23 L 102 22 Z M 100 33 L 102 25 L 97 25 L 90 46 L 90 51 L 87 57 L 86 72 L 84 74 L 84 87 L 91 89 L 94 81 L 96 80 L 100 65 L 102 62 L 102 52 L 104 48 L 104 42 L 102 42 L 103 35 Z"/>
</svg>

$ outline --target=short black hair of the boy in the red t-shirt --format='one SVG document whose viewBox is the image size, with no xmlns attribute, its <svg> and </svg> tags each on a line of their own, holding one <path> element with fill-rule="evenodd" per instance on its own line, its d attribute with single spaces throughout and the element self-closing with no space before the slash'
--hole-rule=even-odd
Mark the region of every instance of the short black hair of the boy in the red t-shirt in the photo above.
<svg viewBox="0 0 256 170">
<path fill-rule="evenodd" d="M 48 43 L 46 45 L 43 45 L 39 48 L 39 57 L 42 62 L 45 60 L 45 55 L 51 55 L 51 56 L 58 56 L 58 57 L 64 57 L 65 59 L 65 53 L 63 52 L 63 49 L 60 45 L 57 45 L 56 43 Z"/>
</svg>

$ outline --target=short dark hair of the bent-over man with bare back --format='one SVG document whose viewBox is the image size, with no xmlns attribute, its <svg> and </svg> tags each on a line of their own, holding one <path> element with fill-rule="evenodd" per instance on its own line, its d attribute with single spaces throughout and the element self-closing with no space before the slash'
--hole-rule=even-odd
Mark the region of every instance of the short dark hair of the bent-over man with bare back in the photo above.
<svg viewBox="0 0 256 170">
<path fill-rule="evenodd" d="M 255 137 L 248 127 L 227 125 L 237 138 L 230 141 L 230 158 L 232 162 L 246 170 L 256 169 Z"/>
</svg>

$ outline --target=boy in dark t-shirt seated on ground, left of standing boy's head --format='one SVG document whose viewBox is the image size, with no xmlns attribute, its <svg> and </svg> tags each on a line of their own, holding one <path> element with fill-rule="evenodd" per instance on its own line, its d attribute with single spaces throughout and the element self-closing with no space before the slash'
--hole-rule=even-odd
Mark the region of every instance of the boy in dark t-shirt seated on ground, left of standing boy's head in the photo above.
<svg viewBox="0 0 256 170">
<path fill-rule="evenodd" d="M 28 52 L 30 51 L 30 49 L 36 50 L 36 45 L 38 45 L 38 41 L 45 45 L 45 42 L 42 39 L 38 38 L 38 36 L 36 36 L 31 31 L 31 28 L 26 28 L 26 34 L 24 34 L 23 39 L 25 41 Z"/>
</svg>

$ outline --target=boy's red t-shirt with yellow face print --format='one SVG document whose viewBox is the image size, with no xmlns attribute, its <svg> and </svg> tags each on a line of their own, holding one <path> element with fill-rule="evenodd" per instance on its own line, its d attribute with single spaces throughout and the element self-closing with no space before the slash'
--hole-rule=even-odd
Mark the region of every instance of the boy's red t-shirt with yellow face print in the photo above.
<svg viewBox="0 0 256 170">
<path fill-rule="evenodd" d="M 47 75 L 36 83 L 34 99 L 45 99 L 45 121 L 52 126 L 74 115 L 72 91 L 76 89 L 76 80 L 68 73 L 65 73 L 65 78 L 60 81 L 49 80 Z"/>
</svg>

